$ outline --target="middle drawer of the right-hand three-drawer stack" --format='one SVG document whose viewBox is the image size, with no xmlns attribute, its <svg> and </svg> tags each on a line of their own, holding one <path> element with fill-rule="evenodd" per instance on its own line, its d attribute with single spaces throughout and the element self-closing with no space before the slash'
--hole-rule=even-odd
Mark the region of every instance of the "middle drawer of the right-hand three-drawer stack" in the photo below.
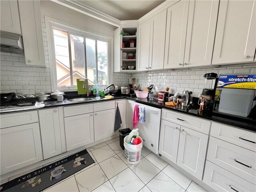
<svg viewBox="0 0 256 192">
<path fill-rule="evenodd" d="M 256 153 L 210 137 L 207 160 L 256 184 Z"/>
</svg>

